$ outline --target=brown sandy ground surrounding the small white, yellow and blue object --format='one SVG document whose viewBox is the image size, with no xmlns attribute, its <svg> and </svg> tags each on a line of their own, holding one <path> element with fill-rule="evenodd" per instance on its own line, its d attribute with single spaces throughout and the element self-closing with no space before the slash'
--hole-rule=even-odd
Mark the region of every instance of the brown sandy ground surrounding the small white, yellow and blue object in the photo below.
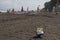
<svg viewBox="0 0 60 40">
<path fill-rule="evenodd" d="M 45 32 L 43 39 L 36 40 L 60 40 L 59 17 L 0 14 L 0 40 L 33 40 L 36 27 L 43 27 Z"/>
</svg>

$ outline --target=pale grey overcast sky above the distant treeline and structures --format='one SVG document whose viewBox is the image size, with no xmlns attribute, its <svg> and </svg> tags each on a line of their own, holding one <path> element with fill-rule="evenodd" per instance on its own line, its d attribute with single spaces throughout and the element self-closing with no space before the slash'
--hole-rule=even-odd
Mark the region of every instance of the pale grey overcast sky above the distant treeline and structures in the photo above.
<svg viewBox="0 0 60 40">
<path fill-rule="evenodd" d="M 23 6 L 24 10 L 36 10 L 38 5 L 40 9 L 44 8 L 44 3 L 50 0 L 0 0 L 0 10 L 6 11 L 7 9 L 21 10 Z"/>
</svg>

